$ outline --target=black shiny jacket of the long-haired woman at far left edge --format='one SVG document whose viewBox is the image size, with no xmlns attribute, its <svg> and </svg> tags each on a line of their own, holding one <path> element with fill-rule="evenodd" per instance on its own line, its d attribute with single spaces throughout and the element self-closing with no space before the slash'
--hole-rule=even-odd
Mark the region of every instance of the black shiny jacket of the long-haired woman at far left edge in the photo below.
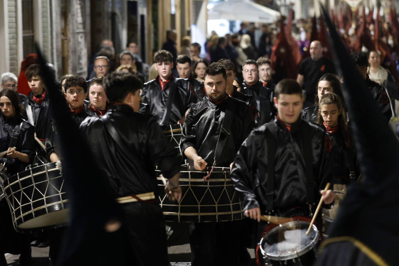
<svg viewBox="0 0 399 266">
<path fill-rule="evenodd" d="M 10 145 L 12 131 L 15 126 L 20 126 L 20 135 L 16 142 L 16 151 L 28 154 L 29 163 L 32 163 L 35 157 L 35 128 L 29 124 L 26 120 L 23 120 L 20 116 L 12 116 L 6 119 L 0 114 L 0 152 L 6 151 Z M 0 158 L 0 163 L 6 162 L 7 172 L 9 175 L 14 175 L 20 171 L 25 170 L 25 167 L 29 164 L 21 162 L 18 159 L 7 158 L 6 156 Z"/>
</svg>

